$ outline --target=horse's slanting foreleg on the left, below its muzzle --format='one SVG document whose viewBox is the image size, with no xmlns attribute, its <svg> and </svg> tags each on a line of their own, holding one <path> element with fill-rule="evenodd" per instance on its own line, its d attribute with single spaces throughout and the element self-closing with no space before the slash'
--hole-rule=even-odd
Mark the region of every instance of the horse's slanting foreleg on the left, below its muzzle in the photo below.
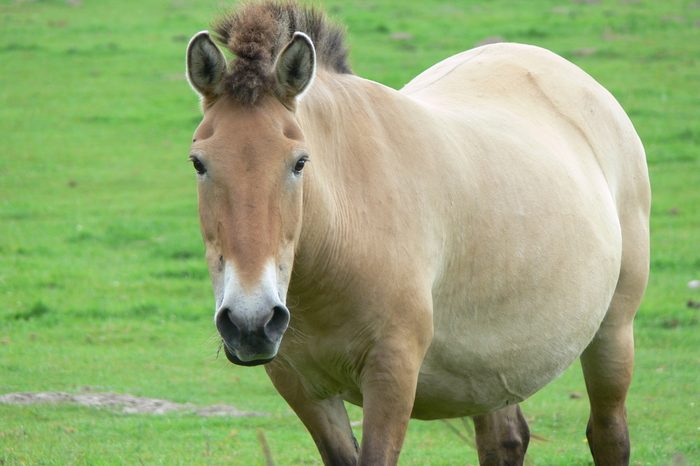
<svg viewBox="0 0 700 466">
<path fill-rule="evenodd" d="M 307 396 L 298 376 L 271 365 L 268 375 L 294 410 L 316 443 L 323 464 L 327 466 L 354 466 L 357 464 L 358 444 L 348 413 L 339 397 L 318 400 Z"/>
</svg>

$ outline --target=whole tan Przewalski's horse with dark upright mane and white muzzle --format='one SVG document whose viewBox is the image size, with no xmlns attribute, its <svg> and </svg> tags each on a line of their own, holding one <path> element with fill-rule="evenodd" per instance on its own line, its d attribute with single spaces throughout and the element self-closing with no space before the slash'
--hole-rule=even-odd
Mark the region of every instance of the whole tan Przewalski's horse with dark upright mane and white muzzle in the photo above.
<svg viewBox="0 0 700 466">
<path fill-rule="evenodd" d="M 521 464 L 518 403 L 581 357 L 595 462 L 627 464 L 650 191 L 615 99 L 516 44 L 395 91 L 290 3 L 216 33 L 230 63 L 206 32 L 187 50 L 216 327 L 233 363 L 267 363 L 323 461 L 395 464 L 410 417 L 473 416 L 482 464 Z M 359 448 L 343 400 L 364 407 Z"/>
</svg>

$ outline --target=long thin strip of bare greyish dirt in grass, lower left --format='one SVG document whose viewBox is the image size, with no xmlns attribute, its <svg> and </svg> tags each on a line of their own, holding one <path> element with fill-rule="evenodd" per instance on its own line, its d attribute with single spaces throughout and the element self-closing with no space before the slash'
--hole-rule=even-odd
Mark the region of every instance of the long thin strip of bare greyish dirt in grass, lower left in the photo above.
<svg viewBox="0 0 700 466">
<path fill-rule="evenodd" d="M 124 414 L 166 414 L 170 412 L 193 413 L 197 416 L 266 416 L 265 413 L 241 411 L 231 405 L 197 406 L 192 403 L 176 403 L 174 401 L 159 400 L 157 398 L 144 398 L 123 393 L 99 392 L 99 393 L 65 393 L 65 392 L 37 392 L 37 393 L 8 393 L 0 395 L 0 404 L 28 405 L 28 404 L 77 404 L 90 408 L 109 409 Z"/>
</svg>

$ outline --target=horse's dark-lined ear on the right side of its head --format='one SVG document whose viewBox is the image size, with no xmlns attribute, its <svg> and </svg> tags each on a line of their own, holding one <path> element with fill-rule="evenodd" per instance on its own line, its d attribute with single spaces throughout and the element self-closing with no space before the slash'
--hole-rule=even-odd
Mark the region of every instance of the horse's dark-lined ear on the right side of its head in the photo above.
<svg viewBox="0 0 700 466">
<path fill-rule="evenodd" d="M 316 49 L 311 38 L 295 32 L 275 62 L 277 97 L 293 106 L 309 90 L 316 75 Z"/>
</svg>

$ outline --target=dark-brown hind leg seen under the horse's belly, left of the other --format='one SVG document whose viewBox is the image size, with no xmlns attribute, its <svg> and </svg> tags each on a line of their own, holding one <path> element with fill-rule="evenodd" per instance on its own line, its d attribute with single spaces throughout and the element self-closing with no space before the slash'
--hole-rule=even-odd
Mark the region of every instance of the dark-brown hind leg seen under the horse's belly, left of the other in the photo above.
<svg viewBox="0 0 700 466">
<path fill-rule="evenodd" d="M 530 429 L 518 405 L 474 416 L 476 447 L 482 466 L 519 466 L 525 460 Z"/>
</svg>

